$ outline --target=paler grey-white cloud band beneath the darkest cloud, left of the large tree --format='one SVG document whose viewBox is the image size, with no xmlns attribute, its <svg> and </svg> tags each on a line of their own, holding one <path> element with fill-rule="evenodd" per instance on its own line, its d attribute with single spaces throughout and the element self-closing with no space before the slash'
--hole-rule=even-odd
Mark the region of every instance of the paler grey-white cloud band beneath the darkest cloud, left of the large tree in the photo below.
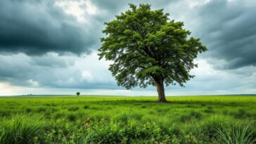
<svg viewBox="0 0 256 144">
<path fill-rule="evenodd" d="M 120 89 L 98 55 L 28 56 L 0 54 L 0 81 L 12 86 L 40 86 L 66 89 Z"/>
</svg>

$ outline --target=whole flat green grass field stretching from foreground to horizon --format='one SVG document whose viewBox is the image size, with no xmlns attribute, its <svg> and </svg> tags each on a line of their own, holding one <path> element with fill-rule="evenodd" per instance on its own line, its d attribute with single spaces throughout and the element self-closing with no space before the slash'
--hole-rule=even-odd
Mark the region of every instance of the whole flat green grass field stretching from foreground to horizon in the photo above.
<svg viewBox="0 0 256 144">
<path fill-rule="evenodd" d="M 0 143 L 256 143 L 256 96 L 0 97 Z"/>
</svg>

